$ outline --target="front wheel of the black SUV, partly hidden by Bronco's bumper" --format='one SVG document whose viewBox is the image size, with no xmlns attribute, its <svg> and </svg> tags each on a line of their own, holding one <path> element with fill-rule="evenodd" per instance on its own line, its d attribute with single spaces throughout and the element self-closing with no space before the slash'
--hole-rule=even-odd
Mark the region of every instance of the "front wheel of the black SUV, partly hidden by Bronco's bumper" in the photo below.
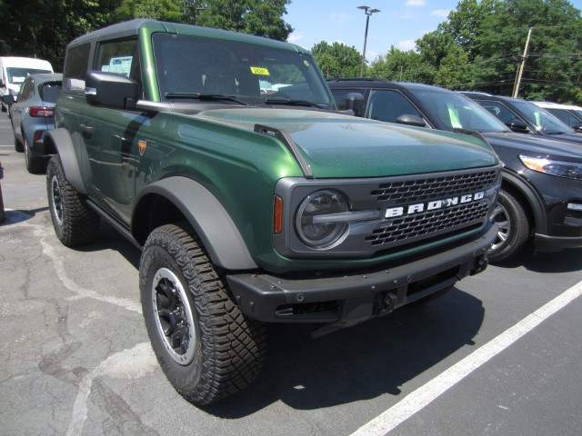
<svg viewBox="0 0 582 436">
<path fill-rule="evenodd" d="M 529 239 L 529 220 L 524 207 L 507 191 L 500 191 L 490 218 L 497 223 L 497 239 L 487 253 L 490 263 L 507 261 L 521 252 Z"/>
</svg>

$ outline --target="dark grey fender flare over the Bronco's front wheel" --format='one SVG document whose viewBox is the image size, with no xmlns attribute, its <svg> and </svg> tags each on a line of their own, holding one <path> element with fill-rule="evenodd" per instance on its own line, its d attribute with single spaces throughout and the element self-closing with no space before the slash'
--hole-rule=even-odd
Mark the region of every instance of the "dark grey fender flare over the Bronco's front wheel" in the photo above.
<svg viewBox="0 0 582 436">
<path fill-rule="evenodd" d="M 179 209 L 202 240 L 216 266 L 227 270 L 257 268 L 224 206 L 206 187 L 184 176 L 172 176 L 150 183 L 139 193 L 132 216 L 132 233 L 133 223 L 139 218 L 140 203 L 149 194 L 160 195 Z"/>
</svg>

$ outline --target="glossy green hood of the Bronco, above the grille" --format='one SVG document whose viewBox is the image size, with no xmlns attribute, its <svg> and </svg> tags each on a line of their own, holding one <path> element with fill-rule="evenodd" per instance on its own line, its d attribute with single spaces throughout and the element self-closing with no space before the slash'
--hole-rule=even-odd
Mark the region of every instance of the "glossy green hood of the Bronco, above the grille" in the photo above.
<svg viewBox="0 0 582 436">
<path fill-rule="evenodd" d="M 250 131 L 255 124 L 283 130 L 320 178 L 430 173 L 498 162 L 493 150 L 476 138 L 344 114 L 241 108 L 205 111 L 196 118 Z"/>
</svg>

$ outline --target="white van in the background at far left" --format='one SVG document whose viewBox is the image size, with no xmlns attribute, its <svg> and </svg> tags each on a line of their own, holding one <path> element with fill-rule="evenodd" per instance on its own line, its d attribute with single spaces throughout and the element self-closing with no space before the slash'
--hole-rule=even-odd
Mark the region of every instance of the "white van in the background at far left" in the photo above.
<svg viewBox="0 0 582 436">
<path fill-rule="evenodd" d="M 54 73 L 53 66 L 48 61 L 32 57 L 0 57 L 0 96 L 16 96 L 26 76 L 36 73 Z M 7 107 L 2 102 L 2 112 L 6 112 Z"/>
</svg>

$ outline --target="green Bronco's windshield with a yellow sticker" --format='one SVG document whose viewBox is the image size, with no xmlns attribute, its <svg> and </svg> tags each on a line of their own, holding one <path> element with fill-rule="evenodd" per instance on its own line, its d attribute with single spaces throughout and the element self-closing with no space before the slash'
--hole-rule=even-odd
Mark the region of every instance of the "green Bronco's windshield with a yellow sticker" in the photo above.
<svg viewBox="0 0 582 436">
<path fill-rule="evenodd" d="M 186 35 L 154 35 L 160 98 L 335 109 L 308 54 Z M 200 98 L 200 97 L 205 98 Z"/>
</svg>

